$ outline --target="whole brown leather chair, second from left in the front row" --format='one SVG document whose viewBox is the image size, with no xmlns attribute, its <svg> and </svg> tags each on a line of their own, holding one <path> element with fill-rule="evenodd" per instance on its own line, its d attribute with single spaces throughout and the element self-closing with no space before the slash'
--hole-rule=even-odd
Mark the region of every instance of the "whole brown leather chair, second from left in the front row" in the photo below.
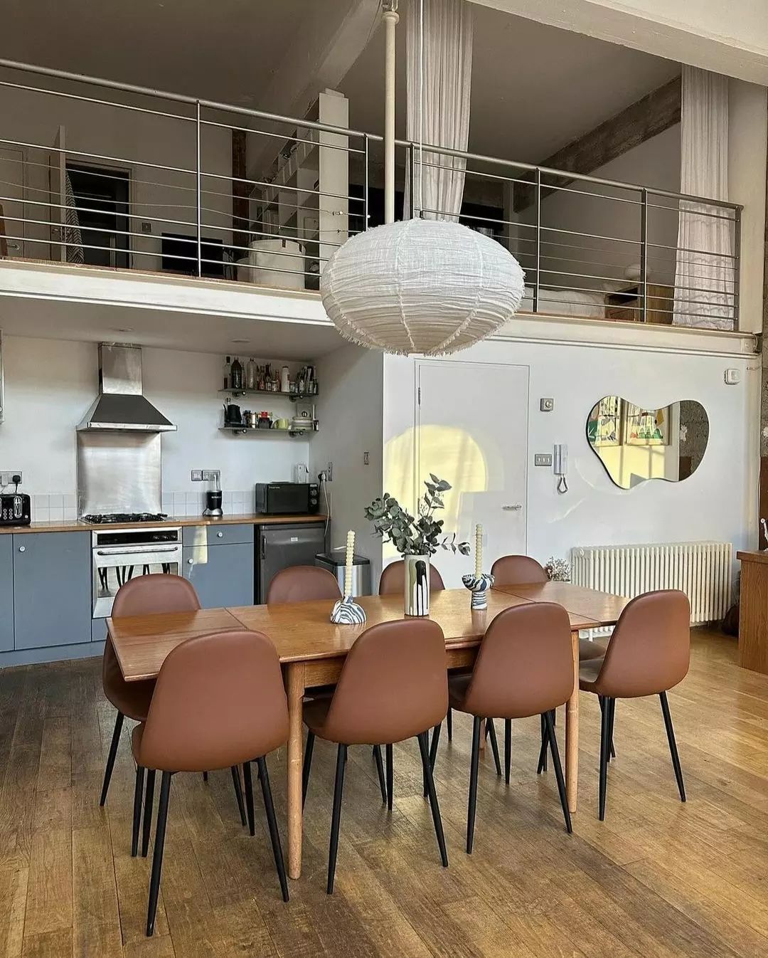
<svg viewBox="0 0 768 958">
<path fill-rule="evenodd" d="M 338 746 L 328 850 L 328 894 L 333 891 L 336 872 L 344 768 L 350 745 L 386 746 L 388 796 L 392 808 L 392 746 L 397 741 L 418 739 L 440 859 L 447 868 L 448 855 L 427 744 L 429 729 L 440 725 L 447 707 L 445 640 L 440 626 L 429 619 L 400 619 L 366 629 L 347 655 L 333 697 L 305 704 L 308 735 L 304 797 L 315 738 L 334 741 Z"/>
</svg>

